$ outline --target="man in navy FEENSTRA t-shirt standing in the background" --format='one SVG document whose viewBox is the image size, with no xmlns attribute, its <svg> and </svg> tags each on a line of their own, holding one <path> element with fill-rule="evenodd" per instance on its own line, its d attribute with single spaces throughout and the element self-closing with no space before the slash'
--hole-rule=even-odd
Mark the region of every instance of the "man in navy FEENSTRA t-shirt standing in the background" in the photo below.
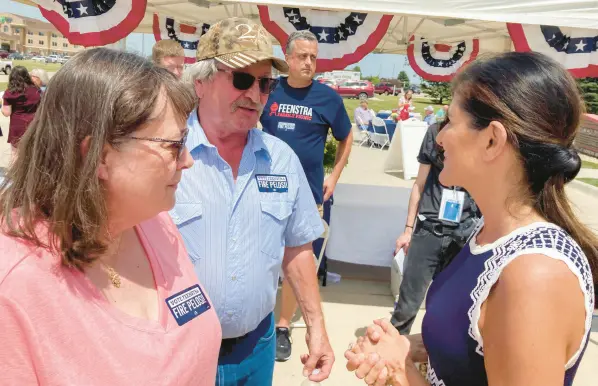
<svg viewBox="0 0 598 386">
<path fill-rule="evenodd" d="M 347 164 L 353 142 L 351 121 L 342 98 L 330 87 L 312 81 L 316 72 L 318 40 L 309 31 L 293 32 L 286 46 L 288 78 L 280 78 L 260 119 L 264 131 L 285 141 L 297 154 L 316 204 L 328 201 Z M 324 146 L 328 130 L 339 141 L 332 173 L 324 179 Z M 317 250 L 314 250 L 318 254 Z M 292 263 L 290 263 L 292 264 Z M 289 269 L 292 269 L 289 267 Z M 276 328 L 276 360 L 291 356 L 290 320 L 297 301 L 283 281 L 280 319 Z"/>
</svg>

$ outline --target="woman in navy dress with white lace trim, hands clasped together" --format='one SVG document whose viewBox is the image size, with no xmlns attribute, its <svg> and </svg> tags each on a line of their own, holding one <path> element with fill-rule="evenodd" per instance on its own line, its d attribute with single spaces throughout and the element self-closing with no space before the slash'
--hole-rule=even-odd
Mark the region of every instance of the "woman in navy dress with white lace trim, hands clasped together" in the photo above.
<svg viewBox="0 0 598 386">
<path fill-rule="evenodd" d="M 430 286 L 423 345 L 376 321 L 347 351 L 349 370 L 375 385 L 573 384 L 598 267 L 598 240 L 565 193 L 582 113 L 575 80 L 541 54 L 477 60 L 456 77 L 440 182 L 465 188 L 484 220 Z"/>
</svg>

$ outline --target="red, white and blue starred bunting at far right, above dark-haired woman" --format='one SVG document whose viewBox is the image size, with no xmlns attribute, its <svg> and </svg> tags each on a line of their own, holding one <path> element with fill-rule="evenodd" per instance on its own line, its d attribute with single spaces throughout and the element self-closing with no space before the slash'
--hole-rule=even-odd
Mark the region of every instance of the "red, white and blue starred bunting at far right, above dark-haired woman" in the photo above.
<svg viewBox="0 0 598 386">
<path fill-rule="evenodd" d="M 577 78 L 598 77 L 598 30 L 507 23 L 515 51 L 550 56 Z"/>
</svg>

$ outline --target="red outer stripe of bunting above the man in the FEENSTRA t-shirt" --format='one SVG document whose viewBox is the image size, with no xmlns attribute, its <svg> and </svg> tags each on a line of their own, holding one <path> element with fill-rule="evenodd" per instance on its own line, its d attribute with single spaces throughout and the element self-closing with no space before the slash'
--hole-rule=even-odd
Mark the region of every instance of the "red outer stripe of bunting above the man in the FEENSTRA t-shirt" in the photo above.
<svg viewBox="0 0 598 386">
<path fill-rule="evenodd" d="M 270 32 L 276 40 L 282 46 L 282 51 L 285 52 L 285 47 L 287 45 L 287 40 L 289 36 L 287 33 L 278 26 L 275 22 L 270 20 L 270 12 L 268 10 L 267 5 L 258 5 L 258 10 L 260 13 L 260 21 L 262 25 L 268 32 Z M 382 40 L 386 31 L 388 30 L 388 26 L 392 20 L 392 15 L 384 15 L 380 19 L 380 23 L 376 30 L 368 37 L 366 42 L 359 46 L 355 52 L 350 54 L 343 55 L 340 58 L 334 59 L 317 59 L 316 60 L 316 71 L 318 72 L 326 72 L 326 71 L 333 71 L 333 70 L 343 70 L 348 65 L 354 64 L 359 62 L 363 59 L 367 54 L 372 52 L 378 43 Z"/>
</svg>

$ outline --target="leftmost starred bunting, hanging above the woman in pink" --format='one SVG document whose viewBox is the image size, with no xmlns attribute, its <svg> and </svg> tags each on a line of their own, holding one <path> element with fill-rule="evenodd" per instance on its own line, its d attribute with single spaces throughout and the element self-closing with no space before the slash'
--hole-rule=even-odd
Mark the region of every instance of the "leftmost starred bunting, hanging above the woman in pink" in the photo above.
<svg viewBox="0 0 598 386">
<path fill-rule="evenodd" d="M 137 28 L 147 0 L 32 0 L 71 44 L 103 46 Z"/>
</svg>

